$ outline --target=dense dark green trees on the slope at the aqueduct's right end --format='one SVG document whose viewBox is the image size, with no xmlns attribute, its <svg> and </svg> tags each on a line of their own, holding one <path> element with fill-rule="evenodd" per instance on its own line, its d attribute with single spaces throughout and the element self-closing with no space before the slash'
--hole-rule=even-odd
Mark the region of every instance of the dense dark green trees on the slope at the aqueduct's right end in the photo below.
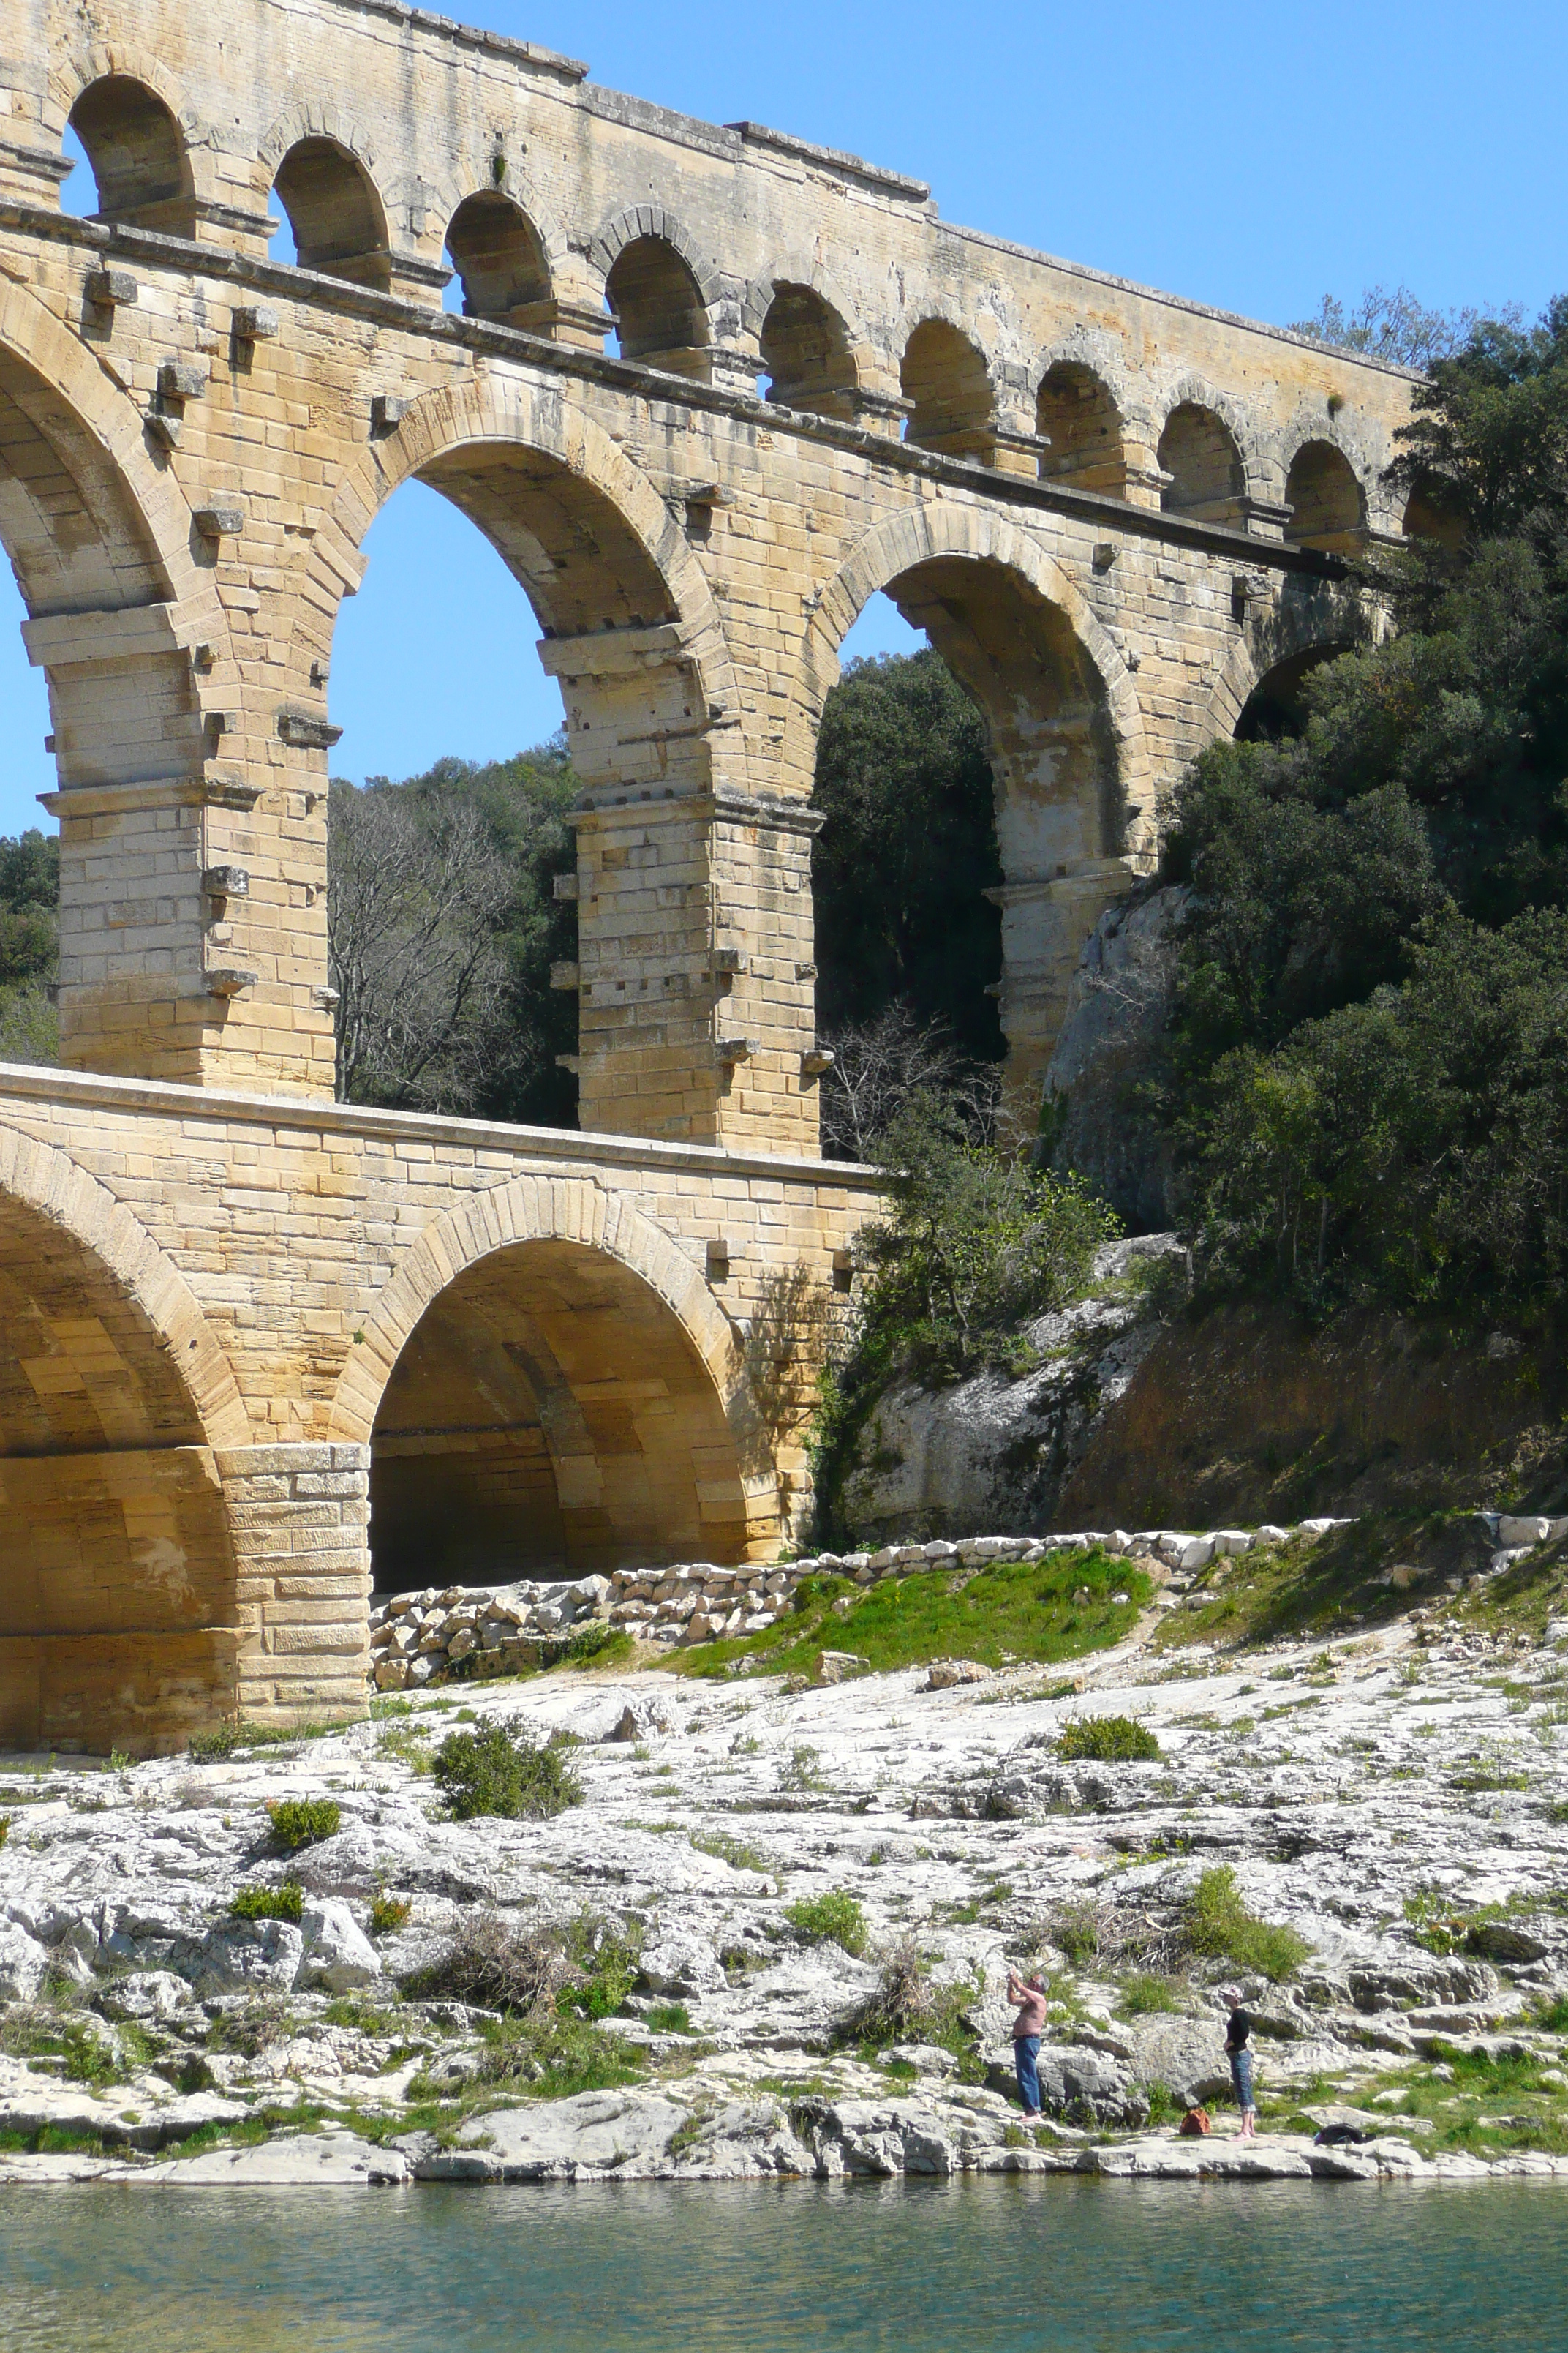
<svg viewBox="0 0 1568 2353">
<path fill-rule="evenodd" d="M 1211 1282 L 1528 1320 L 1568 1289 L 1568 301 L 1476 322 L 1401 445 L 1455 529 L 1368 567 L 1399 633 L 1173 795 L 1164 1118 Z"/>
</svg>

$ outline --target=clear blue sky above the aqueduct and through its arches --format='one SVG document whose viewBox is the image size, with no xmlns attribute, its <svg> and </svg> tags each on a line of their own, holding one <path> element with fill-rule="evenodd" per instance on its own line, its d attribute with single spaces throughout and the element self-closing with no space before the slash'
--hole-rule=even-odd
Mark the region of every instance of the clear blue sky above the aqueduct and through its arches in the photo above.
<svg viewBox="0 0 1568 2353">
<path fill-rule="evenodd" d="M 1408 282 L 1450 304 L 1568 285 L 1568 9 L 1540 0 L 926 0 L 785 12 L 684 0 L 487 0 L 451 14 L 588 61 L 597 82 L 757 120 L 931 181 L 945 219 L 1293 320 L 1326 292 Z M 957 26 L 957 31 L 954 31 Z M 68 198 L 89 209 L 92 195 Z M 409 485 L 343 607 L 336 772 L 404 776 L 550 734 L 555 687 L 510 574 Z M 0 831 L 45 821 L 47 704 L 0 579 Z M 882 600 L 849 652 L 912 642 Z"/>
</svg>

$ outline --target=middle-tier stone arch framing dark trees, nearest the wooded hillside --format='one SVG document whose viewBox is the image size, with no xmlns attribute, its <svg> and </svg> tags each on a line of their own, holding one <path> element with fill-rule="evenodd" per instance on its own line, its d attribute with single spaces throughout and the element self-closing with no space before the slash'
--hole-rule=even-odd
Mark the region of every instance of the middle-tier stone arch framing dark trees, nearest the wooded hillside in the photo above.
<svg viewBox="0 0 1568 2353">
<path fill-rule="evenodd" d="M 1152 866 L 1154 776 L 1117 647 L 1039 541 L 938 504 L 872 529 L 823 588 L 797 671 L 785 765 L 813 769 L 837 647 L 886 591 L 980 706 L 1001 852 L 1001 1026 L 1009 1087 L 1037 1101 L 1067 984 L 1110 899 Z"/>
</svg>

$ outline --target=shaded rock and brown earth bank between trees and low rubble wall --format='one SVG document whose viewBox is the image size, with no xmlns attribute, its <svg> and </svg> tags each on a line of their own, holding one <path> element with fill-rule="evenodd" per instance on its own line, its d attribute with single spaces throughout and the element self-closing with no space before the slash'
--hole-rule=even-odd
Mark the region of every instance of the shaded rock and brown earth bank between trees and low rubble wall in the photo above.
<svg viewBox="0 0 1568 2353">
<path fill-rule="evenodd" d="M 1037 1372 L 889 1391 L 842 1485 L 863 1544 L 987 1527 L 1255 1527 L 1502 1501 L 1568 1511 L 1568 1372 L 1507 1334 L 1467 1348 L 1389 1315 L 1312 1329 L 1241 1301 L 1159 1322 L 1117 1287 L 1041 1318 Z"/>
</svg>

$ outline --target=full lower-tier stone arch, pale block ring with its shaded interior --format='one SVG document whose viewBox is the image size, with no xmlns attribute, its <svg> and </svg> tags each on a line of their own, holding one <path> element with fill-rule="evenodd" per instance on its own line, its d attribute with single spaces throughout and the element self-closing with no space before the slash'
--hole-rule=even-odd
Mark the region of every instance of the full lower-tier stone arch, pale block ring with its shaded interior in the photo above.
<svg viewBox="0 0 1568 2353">
<path fill-rule="evenodd" d="M 376 1504 L 397 1527 L 383 1586 L 741 1560 L 773 1537 L 729 1320 L 623 1193 L 517 1176 L 470 1195 L 362 1332 L 331 1428 L 371 1445 L 371 1541 Z"/>
</svg>

